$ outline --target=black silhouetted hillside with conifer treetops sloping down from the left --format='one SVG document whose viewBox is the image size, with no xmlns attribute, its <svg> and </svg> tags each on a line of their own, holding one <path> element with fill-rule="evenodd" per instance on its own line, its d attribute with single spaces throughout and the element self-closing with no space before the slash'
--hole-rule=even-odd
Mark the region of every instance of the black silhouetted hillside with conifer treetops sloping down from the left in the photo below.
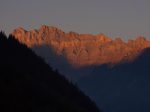
<svg viewBox="0 0 150 112">
<path fill-rule="evenodd" d="M 2 32 L 0 93 L 1 112 L 99 112 L 76 86 Z"/>
</svg>

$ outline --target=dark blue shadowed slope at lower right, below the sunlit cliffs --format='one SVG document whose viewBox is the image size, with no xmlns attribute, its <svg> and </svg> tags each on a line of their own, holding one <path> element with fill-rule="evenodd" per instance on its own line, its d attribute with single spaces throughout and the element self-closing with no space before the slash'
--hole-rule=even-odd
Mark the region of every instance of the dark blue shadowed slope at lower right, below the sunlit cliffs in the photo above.
<svg viewBox="0 0 150 112">
<path fill-rule="evenodd" d="M 104 112 L 149 112 L 150 48 L 133 62 L 97 66 L 77 83 Z"/>
</svg>

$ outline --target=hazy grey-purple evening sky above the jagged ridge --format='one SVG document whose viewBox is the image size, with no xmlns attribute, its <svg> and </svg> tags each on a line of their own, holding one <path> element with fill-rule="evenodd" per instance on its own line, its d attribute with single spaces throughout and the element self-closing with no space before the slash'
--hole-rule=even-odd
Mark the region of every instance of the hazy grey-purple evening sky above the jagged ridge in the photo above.
<svg viewBox="0 0 150 112">
<path fill-rule="evenodd" d="M 150 0 L 0 0 L 0 30 L 42 24 L 65 32 L 150 39 Z"/>
</svg>

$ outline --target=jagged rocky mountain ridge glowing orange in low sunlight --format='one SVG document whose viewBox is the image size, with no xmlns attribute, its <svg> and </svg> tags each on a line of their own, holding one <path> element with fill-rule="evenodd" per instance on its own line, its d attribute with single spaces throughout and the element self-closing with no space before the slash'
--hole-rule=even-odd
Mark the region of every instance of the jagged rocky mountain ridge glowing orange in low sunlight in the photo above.
<svg viewBox="0 0 150 112">
<path fill-rule="evenodd" d="M 18 28 L 12 35 L 31 48 L 34 45 L 50 46 L 58 55 L 65 56 L 74 67 L 132 61 L 144 48 L 150 47 L 150 42 L 143 37 L 125 43 L 120 38 L 112 40 L 104 34 L 65 33 L 45 25 L 31 31 Z"/>
</svg>

